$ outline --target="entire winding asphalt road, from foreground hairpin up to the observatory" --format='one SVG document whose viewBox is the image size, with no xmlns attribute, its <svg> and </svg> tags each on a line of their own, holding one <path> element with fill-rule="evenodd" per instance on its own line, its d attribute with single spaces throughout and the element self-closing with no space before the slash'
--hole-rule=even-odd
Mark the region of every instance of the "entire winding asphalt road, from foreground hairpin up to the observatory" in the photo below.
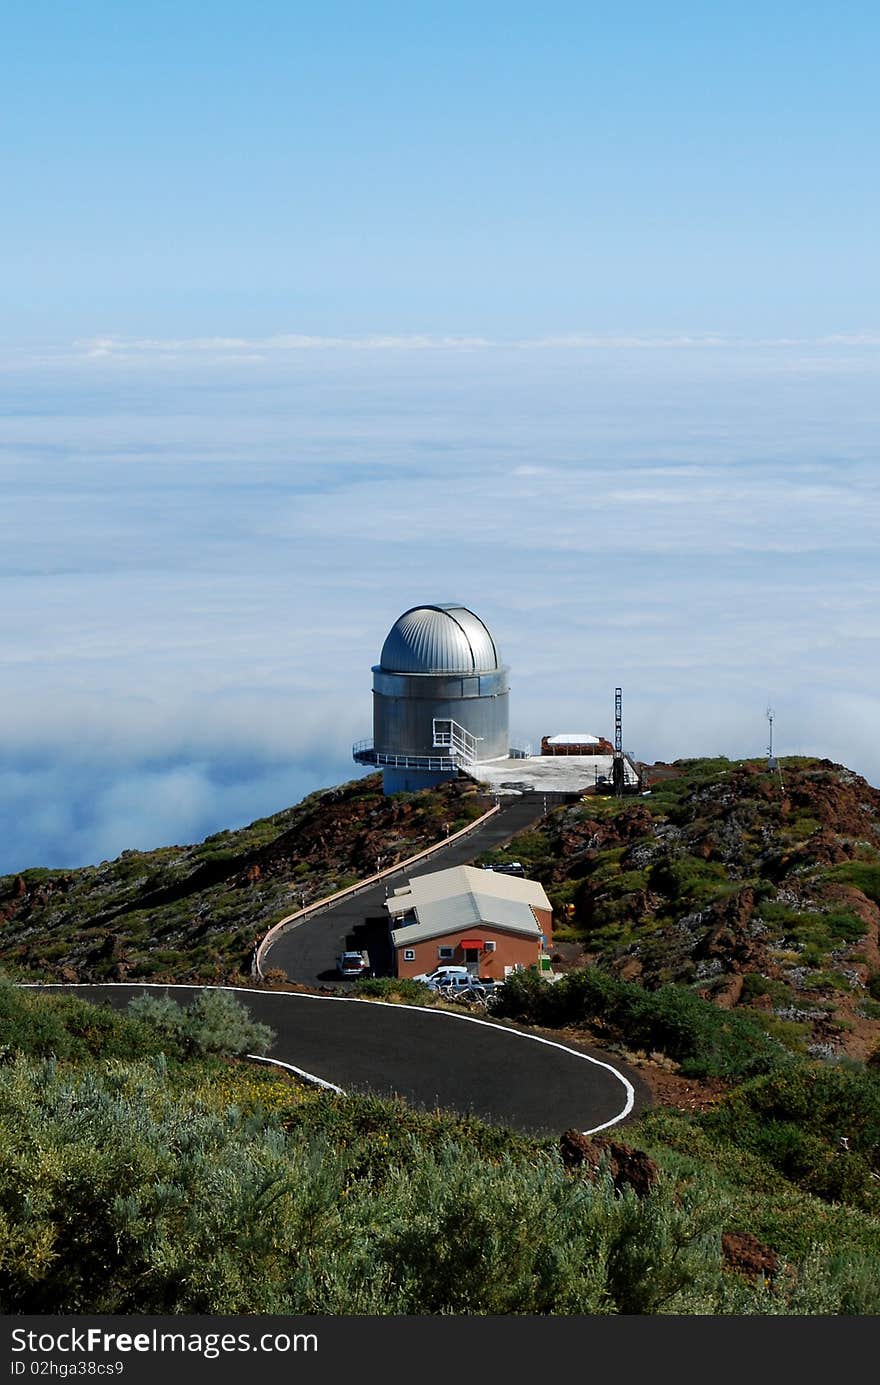
<svg viewBox="0 0 880 1385">
<path fill-rule="evenodd" d="M 399 1096 L 423 1109 L 475 1115 L 527 1134 L 595 1133 L 647 1104 L 647 1091 L 621 1064 L 552 1035 L 474 1015 L 359 1000 L 341 983 L 337 953 L 366 947 L 373 971 L 391 971 L 385 896 L 405 879 L 463 866 L 538 821 L 556 796 L 524 795 L 423 861 L 387 874 L 376 885 L 322 906 L 276 938 L 265 967 L 331 994 L 234 990 L 255 1019 L 276 1033 L 274 1061 L 324 1086 Z M 46 986 L 125 1008 L 143 992 L 170 992 L 186 1003 L 200 986 Z"/>
</svg>

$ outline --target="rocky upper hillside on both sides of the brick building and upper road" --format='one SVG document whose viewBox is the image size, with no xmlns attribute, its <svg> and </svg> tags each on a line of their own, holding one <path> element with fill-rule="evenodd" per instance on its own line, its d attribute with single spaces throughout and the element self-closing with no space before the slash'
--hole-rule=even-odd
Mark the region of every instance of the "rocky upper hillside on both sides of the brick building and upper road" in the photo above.
<svg viewBox="0 0 880 1385">
<path fill-rule="evenodd" d="M 682 760 L 636 799 L 556 809 L 506 850 L 554 904 L 558 970 L 672 982 L 787 1047 L 865 1058 L 880 1043 L 880 792 L 829 760 Z M 384 798 L 378 776 L 194 846 L 0 879 L 8 974 L 234 981 L 254 939 L 463 825 L 473 785 Z"/>
</svg>

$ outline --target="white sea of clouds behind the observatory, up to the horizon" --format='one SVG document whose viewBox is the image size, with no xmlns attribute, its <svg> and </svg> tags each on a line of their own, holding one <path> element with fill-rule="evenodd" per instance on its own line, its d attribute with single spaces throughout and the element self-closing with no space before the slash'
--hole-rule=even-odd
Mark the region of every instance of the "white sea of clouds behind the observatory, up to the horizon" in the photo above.
<svg viewBox="0 0 880 1385">
<path fill-rule="evenodd" d="M 401 611 L 511 731 L 880 783 L 880 341 L 103 338 L 0 360 L 0 873 L 360 773 Z"/>
</svg>

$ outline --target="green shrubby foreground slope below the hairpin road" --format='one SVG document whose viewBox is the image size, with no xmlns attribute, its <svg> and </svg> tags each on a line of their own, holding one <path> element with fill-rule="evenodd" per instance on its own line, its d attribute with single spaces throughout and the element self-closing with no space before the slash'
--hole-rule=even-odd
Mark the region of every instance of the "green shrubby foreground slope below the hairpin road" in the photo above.
<svg viewBox="0 0 880 1385">
<path fill-rule="evenodd" d="M 629 1127 L 661 1184 L 617 1198 L 552 1141 L 166 1062 L 147 1024 L 69 997 L 0 988 L 0 1047 L 4 1312 L 880 1310 L 880 1219 L 683 1115 Z M 725 1231 L 782 1255 L 771 1288 Z"/>
</svg>

